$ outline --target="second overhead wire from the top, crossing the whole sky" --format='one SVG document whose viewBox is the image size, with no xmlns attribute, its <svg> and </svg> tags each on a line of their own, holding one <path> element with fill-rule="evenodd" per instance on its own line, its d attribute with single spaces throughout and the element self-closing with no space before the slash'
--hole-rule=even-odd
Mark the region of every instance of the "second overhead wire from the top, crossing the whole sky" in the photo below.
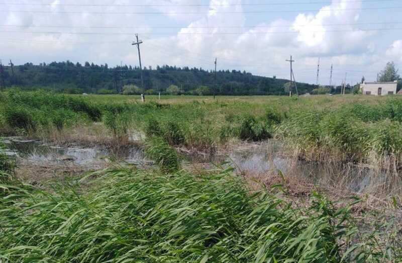
<svg viewBox="0 0 402 263">
<path fill-rule="evenodd" d="M 267 14 L 267 13 L 302 13 L 302 12 L 334 12 L 334 11 L 365 11 L 402 9 L 402 7 L 377 8 L 345 8 L 345 9 L 314 9 L 314 10 L 259 10 L 259 11 L 216 11 L 215 14 Z M 196 15 L 205 12 L 87 12 L 87 11 L 38 11 L 38 10 L 0 10 L 2 13 L 40 13 L 40 14 L 95 14 L 95 15 Z"/>
</svg>

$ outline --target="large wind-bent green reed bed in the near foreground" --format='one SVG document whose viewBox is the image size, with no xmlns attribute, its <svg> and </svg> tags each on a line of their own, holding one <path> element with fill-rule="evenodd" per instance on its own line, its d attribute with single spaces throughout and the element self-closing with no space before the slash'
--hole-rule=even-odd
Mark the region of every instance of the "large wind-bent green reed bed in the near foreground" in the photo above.
<svg viewBox="0 0 402 263">
<path fill-rule="evenodd" d="M 99 173 L 97 173 L 99 176 Z M 85 180 L 83 178 L 82 180 Z M 350 207 L 314 194 L 304 210 L 250 194 L 230 171 L 174 176 L 120 168 L 51 193 L 0 199 L 5 262 L 397 262 L 362 240 Z M 364 237 L 362 237 L 364 238 Z"/>
</svg>

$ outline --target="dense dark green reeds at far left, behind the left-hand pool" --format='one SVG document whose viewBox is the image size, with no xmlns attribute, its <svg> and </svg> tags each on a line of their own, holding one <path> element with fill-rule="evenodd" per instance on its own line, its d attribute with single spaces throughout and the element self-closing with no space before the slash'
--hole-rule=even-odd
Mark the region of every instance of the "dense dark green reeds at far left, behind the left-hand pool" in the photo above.
<svg viewBox="0 0 402 263">
<path fill-rule="evenodd" d="M 7 92 L 0 98 L 0 115 L 12 135 L 51 137 L 74 125 L 97 121 L 100 110 L 87 100 L 46 92 Z M 14 131 L 14 132 L 13 132 Z"/>
</svg>

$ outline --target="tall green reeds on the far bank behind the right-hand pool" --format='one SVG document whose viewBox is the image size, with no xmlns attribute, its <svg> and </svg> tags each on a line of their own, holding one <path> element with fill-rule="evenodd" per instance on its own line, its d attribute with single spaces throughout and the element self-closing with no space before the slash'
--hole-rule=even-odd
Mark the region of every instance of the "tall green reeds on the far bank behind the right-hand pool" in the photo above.
<svg viewBox="0 0 402 263">
<path fill-rule="evenodd" d="M 275 133 L 316 161 L 366 162 L 373 152 L 378 157 L 398 156 L 402 153 L 402 133 L 394 113 L 399 104 L 387 100 L 375 105 L 299 110 L 278 125 Z"/>
</svg>

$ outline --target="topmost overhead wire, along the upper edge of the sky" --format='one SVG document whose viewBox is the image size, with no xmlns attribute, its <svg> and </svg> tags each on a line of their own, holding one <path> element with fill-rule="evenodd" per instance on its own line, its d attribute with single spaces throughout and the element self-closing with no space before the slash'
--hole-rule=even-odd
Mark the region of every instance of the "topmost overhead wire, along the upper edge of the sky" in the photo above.
<svg viewBox="0 0 402 263">
<path fill-rule="evenodd" d="M 395 2 L 397 0 L 358 0 L 343 1 L 343 3 L 382 3 Z M 309 2 L 284 2 L 284 3 L 249 3 L 249 4 L 169 4 L 169 5 L 145 5 L 145 4 L 42 4 L 42 3 L 0 3 L 8 6 L 51 6 L 51 7 L 236 7 L 236 6 L 283 6 L 283 5 L 316 5 L 331 4 L 330 1 L 309 1 Z"/>
</svg>

